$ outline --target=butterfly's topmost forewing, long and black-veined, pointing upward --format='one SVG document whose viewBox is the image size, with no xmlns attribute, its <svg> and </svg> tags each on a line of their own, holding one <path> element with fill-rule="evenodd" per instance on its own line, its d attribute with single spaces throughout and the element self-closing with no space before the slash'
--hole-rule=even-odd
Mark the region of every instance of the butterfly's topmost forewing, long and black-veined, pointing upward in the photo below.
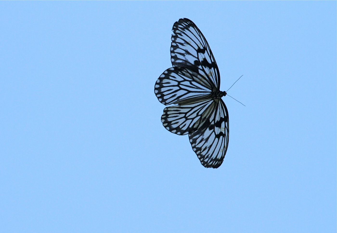
<svg viewBox="0 0 337 233">
<path fill-rule="evenodd" d="M 171 62 L 173 67 L 187 67 L 220 87 L 220 74 L 212 51 L 201 31 L 189 19 L 173 25 Z"/>
</svg>

